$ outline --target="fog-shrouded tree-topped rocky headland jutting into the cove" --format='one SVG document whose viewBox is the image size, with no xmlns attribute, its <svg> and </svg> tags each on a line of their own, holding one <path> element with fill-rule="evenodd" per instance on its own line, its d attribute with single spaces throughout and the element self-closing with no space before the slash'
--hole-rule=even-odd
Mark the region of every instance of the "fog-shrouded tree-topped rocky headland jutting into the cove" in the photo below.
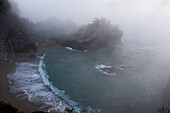
<svg viewBox="0 0 170 113">
<path fill-rule="evenodd" d="M 123 32 L 106 18 L 96 18 L 91 24 L 82 26 L 72 37 L 76 44 L 71 47 L 76 49 L 97 49 L 121 44 Z"/>
</svg>

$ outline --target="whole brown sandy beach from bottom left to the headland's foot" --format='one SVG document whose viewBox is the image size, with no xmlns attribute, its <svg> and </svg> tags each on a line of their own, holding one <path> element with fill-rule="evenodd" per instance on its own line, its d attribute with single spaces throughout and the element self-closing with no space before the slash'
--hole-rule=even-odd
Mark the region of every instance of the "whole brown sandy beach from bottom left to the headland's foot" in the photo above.
<svg viewBox="0 0 170 113">
<path fill-rule="evenodd" d="M 28 99 L 20 100 L 17 99 L 16 96 L 18 94 L 14 94 L 10 92 L 10 84 L 8 82 L 7 75 L 15 72 L 16 63 L 31 61 L 31 60 L 39 60 L 39 56 L 42 54 L 52 51 L 56 48 L 59 48 L 55 42 L 47 41 L 42 42 L 37 46 L 37 51 L 30 51 L 26 54 L 20 53 L 13 55 L 8 55 L 8 60 L 0 64 L 0 100 L 4 102 L 10 103 L 12 106 L 16 107 L 19 111 L 24 113 L 31 113 L 33 111 L 37 111 L 39 106 L 35 105 L 28 101 Z M 32 57 L 33 56 L 33 57 Z M 35 58 L 34 58 L 35 56 Z"/>
</svg>

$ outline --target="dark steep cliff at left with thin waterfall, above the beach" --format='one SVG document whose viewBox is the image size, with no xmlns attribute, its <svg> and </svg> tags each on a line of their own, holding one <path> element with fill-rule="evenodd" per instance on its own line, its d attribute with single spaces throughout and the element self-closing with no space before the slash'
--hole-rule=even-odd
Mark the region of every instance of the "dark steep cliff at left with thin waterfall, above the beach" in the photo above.
<svg viewBox="0 0 170 113">
<path fill-rule="evenodd" d="M 0 62 L 7 55 L 35 50 L 35 43 L 24 32 L 21 18 L 11 10 L 8 0 L 0 0 Z"/>
</svg>

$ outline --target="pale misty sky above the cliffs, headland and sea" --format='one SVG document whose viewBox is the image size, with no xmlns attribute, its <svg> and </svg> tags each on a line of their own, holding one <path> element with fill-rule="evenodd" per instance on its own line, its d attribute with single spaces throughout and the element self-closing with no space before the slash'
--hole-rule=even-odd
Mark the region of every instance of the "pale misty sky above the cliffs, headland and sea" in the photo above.
<svg viewBox="0 0 170 113">
<path fill-rule="evenodd" d="M 78 25 L 106 17 L 124 32 L 170 41 L 170 0 L 15 0 L 19 14 L 33 22 L 50 17 Z M 139 32 L 140 31 L 140 32 Z M 152 36 L 154 34 L 154 36 Z M 144 35 L 144 36 L 143 36 Z M 137 36 L 136 36 L 137 37 Z M 162 39 L 161 39 L 162 41 Z"/>
</svg>

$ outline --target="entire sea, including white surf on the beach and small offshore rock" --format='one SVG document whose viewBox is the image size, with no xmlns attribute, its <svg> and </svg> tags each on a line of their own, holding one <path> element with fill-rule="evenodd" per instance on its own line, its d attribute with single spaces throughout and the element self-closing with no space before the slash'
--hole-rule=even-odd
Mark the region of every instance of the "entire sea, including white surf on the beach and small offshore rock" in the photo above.
<svg viewBox="0 0 170 113">
<path fill-rule="evenodd" d="M 40 105 L 77 113 L 152 113 L 169 80 L 168 48 L 124 40 L 114 49 L 61 47 L 40 61 L 17 63 L 10 92 Z"/>
</svg>

